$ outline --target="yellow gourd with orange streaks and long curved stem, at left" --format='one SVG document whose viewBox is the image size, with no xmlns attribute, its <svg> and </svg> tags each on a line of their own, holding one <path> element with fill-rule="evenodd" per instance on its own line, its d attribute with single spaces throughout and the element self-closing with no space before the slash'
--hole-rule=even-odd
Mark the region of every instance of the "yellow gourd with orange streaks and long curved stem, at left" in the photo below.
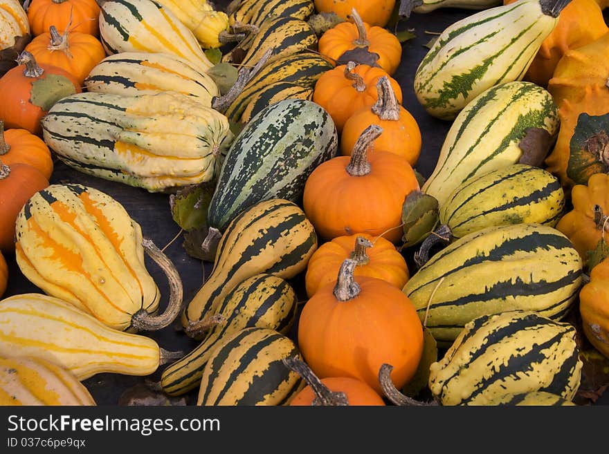
<svg viewBox="0 0 609 454">
<path fill-rule="evenodd" d="M 17 265 L 30 282 L 110 328 L 158 330 L 179 314 L 177 270 L 143 240 L 125 208 L 98 189 L 58 184 L 38 191 L 19 211 L 15 236 Z M 161 295 L 144 250 L 170 273 L 170 302 L 160 318 L 152 315 Z"/>
</svg>

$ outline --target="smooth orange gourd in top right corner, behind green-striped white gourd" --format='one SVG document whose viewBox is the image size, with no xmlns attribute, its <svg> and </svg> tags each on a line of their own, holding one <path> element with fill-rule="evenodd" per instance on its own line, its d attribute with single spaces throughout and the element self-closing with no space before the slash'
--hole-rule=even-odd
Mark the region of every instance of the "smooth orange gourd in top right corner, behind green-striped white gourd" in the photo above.
<svg viewBox="0 0 609 454">
<path fill-rule="evenodd" d="M 516 0 L 504 0 L 504 4 Z M 596 0 L 571 0 L 561 11 L 554 30 L 543 40 L 524 79 L 546 87 L 554 68 L 568 50 L 594 41 L 608 31 Z"/>
</svg>

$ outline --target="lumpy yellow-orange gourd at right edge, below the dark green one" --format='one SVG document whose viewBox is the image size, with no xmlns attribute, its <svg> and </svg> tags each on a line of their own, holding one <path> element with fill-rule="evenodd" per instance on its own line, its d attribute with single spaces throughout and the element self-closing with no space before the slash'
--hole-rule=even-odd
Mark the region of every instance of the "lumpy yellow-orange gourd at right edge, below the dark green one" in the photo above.
<svg viewBox="0 0 609 454">
<path fill-rule="evenodd" d="M 609 244 L 609 175 L 595 173 L 588 185 L 575 185 L 571 202 L 573 208 L 558 220 L 556 229 L 571 240 L 585 263 L 599 241 Z"/>
</svg>

